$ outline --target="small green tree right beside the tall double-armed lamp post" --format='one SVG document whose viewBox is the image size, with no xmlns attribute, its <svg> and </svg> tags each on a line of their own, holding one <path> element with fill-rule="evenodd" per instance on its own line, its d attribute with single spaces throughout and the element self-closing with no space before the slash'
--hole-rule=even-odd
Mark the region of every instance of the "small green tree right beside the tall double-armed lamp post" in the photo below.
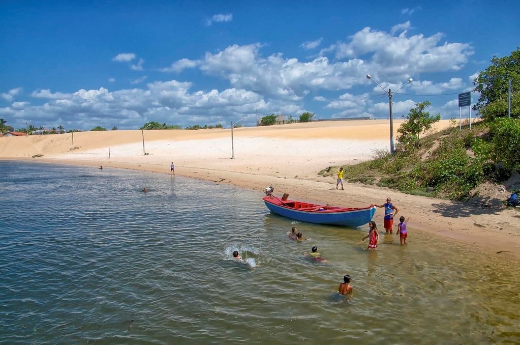
<svg viewBox="0 0 520 345">
<path fill-rule="evenodd" d="M 440 114 L 431 116 L 429 112 L 425 111 L 431 103 L 425 100 L 422 103 L 415 103 L 415 108 L 410 109 L 410 112 L 406 116 L 406 120 L 401 124 L 397 133 L 397 140 L 405 147 L 418 147 L 421 146 L 420 134 L 432 128 L 432 124 L 440 121 Z"/>
</svg>

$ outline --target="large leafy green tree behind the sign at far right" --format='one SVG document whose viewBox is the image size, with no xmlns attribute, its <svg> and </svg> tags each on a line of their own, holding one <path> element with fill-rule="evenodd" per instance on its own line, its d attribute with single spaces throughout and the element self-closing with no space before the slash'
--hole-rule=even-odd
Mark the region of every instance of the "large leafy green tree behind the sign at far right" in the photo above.
<svg viewBox="0 0 520 345">
<path fill-rule="evenodd" d="M 473 110 L 486 120 L 508 116 L 508 91 L 511 79 L 511 117 L 520 118 L 520 47 L 510 56 L 493 56 L 491 65 L 478 73 L 474 92 L 480 93 Z"/>
</svg>

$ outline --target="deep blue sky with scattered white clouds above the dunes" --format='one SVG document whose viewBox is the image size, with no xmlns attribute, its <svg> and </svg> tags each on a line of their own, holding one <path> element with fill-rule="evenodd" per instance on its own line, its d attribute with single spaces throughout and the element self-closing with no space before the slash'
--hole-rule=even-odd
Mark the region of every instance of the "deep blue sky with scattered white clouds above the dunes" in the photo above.
<svg viewBox="0 0 520 345">
<path fill-rule="evenodd" d="M 518 13 L 514 0 L 2 1 L 0 117 L 81 130 L 387 119 L 370 74 L 386 90 L 413 78 L 394 119 L 424 100 L 458 118 L 458 93 L 520 46 Z"/>
</svg>

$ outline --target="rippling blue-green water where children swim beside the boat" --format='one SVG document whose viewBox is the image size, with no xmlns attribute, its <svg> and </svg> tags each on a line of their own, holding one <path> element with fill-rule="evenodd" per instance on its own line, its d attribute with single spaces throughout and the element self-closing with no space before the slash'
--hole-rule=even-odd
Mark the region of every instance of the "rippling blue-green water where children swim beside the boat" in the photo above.
<svg viewBox="0 0 520 345">
<path fill-rule="evenodd" d="M 518 264 L 413 222 L 408 246 L 381 235 L 369 252 L 365 230 L 293 223 L 254 191 L 54 164 L 0 169 L 0 343 L 520 342 Z M 289 239 L 292 226 L 311 239 Z M 326 263 L 303 256 L 313 245 Z"/>
</svg>

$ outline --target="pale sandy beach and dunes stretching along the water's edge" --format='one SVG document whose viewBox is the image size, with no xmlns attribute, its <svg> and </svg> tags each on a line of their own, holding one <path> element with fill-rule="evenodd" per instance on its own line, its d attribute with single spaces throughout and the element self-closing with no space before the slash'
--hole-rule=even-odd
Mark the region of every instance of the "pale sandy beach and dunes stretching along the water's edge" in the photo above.
<svg viewBox="0 0 520 345">
<path fill-rule="evenodd" d="M 395 137 L 400 123 L 394 121 Z M 435 130 L 447 126 L 449 121 L 443 120 Z M 292 199 L 345 207 L 382 204 L 392 197 L 399 214 L 411 217 L 409 245 L 413 232 L 421 231 L 472 244 L 490 255 L 520 259 L 518 213 L 499 202 L 509 196 L 510 186 L 490 185 L 485 198 L 460 203 L 357 183 L 337 190 L 335 177 L 318 175 L 324 168 L 368 160 L 374 150 L 388 148 L 388 120 L 238 127 L 232 141 L 229 128 L 77 132 L 73 140 L 71 133 L 0 137 L 0 159 L 103 165 L 165 175 L 174 161 L 176 176 L 257 190 L 258 198 L 267 186 L 274 186 L 276 195 L 289 193 Z M 379 209 L 374 217 L 380 228 L 382 214 Z"/>
</svg>

